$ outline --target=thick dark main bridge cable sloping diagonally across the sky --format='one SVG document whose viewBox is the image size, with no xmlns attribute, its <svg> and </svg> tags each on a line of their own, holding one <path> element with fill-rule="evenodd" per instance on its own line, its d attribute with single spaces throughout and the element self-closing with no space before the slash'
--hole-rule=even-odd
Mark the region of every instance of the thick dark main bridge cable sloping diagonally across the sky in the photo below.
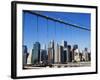
<svg viewBox="0 0 100 80">
<path fill-rule="evenodd" d="M 30 14 L 33 14 L 33 15 L 37 15 L 37 16 L 46 18 L 48 20 L 52 20 L 52 21 L 55 21 L 55 22 L 59 22 L 59 23 L 65 24 L 65 25 L 69 25 L 69 26 L 74 27 L 74 28 L 82 29 L 82 30 L 85 30 L 85 31 L 91 31 L 91 29 L 84 28 L 84 27 L 81 27 L 81 26 L 76 25 L 76 24 L 68 23 L 68 22 L 65 22 L 65 21 L 60 20 L 60 19 L 51 18 L 51 17 L 45 16 L 43 14 L 36 13 L 36 12 L 33 12 L 33 11 L 24 10 L 24 12 L 27 12 L 27 13 L 30 13 Z"/>
</svg>

